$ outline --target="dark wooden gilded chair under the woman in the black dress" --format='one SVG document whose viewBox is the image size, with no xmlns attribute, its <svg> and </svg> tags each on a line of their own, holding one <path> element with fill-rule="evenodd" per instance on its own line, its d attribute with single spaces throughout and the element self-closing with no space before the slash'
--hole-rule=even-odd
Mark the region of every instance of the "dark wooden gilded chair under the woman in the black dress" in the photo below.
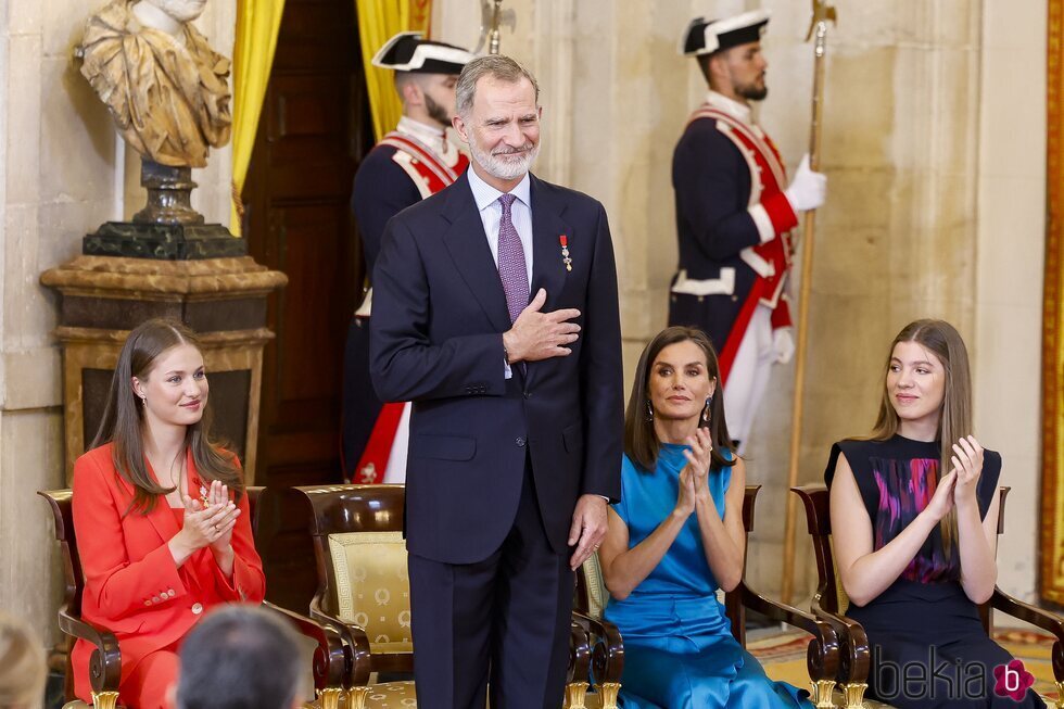
<svg viewBox="0 0 1064 709">
<path fill-rule="evenodd" d="M 806 522 L 809 535 L 813 541 L 813 552 L 816 557 L 818 587 L 812 599 L 813 613 L 835 628 L 840 643 L 838 667 L 838 686 L 841 691 L 839 704 L 847 709 L 860 707 L 887 707 L 883 702 L 864 699 L 867 688 L 869 672 L 872 669 L 872 653 L 869 637 L 860 623 L 847 618 L 846 610 L 849 599 L 838 574 L 835 553 L 832 542 L 832 518 L 827 488 L 824 485 L 802 485 L 790 489 L 806 509 Z M 1005 529 L 1005 498 L 1010 488 L 1002 486 L 998 491 L 998 535 Z M 1000 588 L 995 587 L 993 595 L 979 606 L 983 625 L 989 634 L 992 631 L 992 611 L 1023 620 L 1037 628 L 1048 631 L 1056 637 L 1053 643 L 1052 663 L 1053 678 L 1056 681 L 1056 707 L 1064 708 L 1064 619 L 1041 608 L 1025 604 Z"/>
</svg>

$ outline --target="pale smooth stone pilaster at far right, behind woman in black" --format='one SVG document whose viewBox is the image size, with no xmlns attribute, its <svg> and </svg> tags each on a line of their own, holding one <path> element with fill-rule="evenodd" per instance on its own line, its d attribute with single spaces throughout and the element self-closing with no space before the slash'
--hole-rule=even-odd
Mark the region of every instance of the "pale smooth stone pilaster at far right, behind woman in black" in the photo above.
<svg viewBox="0 0 1064 709">
<path fill-rule="evenodd" d="M 1026 600 L 1036 598 L 1041 491 L 1046 13 L 1044 0 L 986 0 L 980 62 L 976 430 L 1001 452 L 1012 486 L 998 583 Z"/>
</svg>

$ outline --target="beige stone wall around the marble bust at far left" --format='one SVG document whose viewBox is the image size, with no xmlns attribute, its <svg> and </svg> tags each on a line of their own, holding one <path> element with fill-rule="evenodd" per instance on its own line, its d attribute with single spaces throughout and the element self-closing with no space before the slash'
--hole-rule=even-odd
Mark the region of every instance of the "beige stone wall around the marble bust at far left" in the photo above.
<svg viewBox="0 0 1064 709">
<path fill-rule="evenodd" d="M 129 216 L 139 167 L 115 169 L 115 131 L 73 61 L 88 14 L 103 0 L 0 3 L 0 608 L 55 638 L 61 570 L 51 517 L 34 493 L 63 485 L 55 294 L 41 271 L 80 252 L 101 223 Z M 215 0 L 199 21 L 232 50 L 235 5 Z M 228 221 L 229 151 L 199 170 L 194 203 Z M 130 156 L 131 157 L 131 156 Z M 139 188 L 138 188 L 139 189 Z M 124 200 L 126 193 L 132 200 Z"/>
</svg>

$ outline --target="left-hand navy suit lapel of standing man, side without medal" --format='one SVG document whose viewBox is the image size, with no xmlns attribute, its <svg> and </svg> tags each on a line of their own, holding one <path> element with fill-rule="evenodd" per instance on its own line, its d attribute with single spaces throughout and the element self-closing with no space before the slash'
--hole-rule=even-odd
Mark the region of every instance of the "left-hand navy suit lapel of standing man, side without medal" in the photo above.
<svg viewBox="0 0 1064 709">
<path fill-rule="evenodd" d="M 451 252 L 458 274 L 472 291 L 492 326 L 499 332 L 509 330 L 510 316 L 506 311 L 506 294 L 503 292 L 503 282 L 498 278 L 498 269 L 484 235 L 484 223 L 473 201 L 468 178 L 459 178 L 447 190 L 443 217 L 451 223 L 443 242 Z"/>
</svg>

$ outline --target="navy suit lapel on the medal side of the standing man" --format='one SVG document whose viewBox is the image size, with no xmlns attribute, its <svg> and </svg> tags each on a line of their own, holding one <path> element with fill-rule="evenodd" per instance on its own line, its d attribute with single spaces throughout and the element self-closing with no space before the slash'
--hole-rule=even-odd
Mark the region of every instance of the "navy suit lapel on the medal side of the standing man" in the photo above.
<svg viewBox="0 0 1064 709">
<path fill-rule="evenodd" d="M 547 292 L 547 301 L 543 312 L 557 309 L 561 291 L 566 286 L 566 265 L 561 258 L 560 237 L 566 236 L 572 243 L 572 228 L 561 218 L 566 204 L 554 199 L 554 194 L 535 176 L 532 180 L 532 289 L 529 297 L 542 288 Z M 529 363 L 528 382 L 531 384 L 535 372 L 544 362 Z"/>
</svg>

